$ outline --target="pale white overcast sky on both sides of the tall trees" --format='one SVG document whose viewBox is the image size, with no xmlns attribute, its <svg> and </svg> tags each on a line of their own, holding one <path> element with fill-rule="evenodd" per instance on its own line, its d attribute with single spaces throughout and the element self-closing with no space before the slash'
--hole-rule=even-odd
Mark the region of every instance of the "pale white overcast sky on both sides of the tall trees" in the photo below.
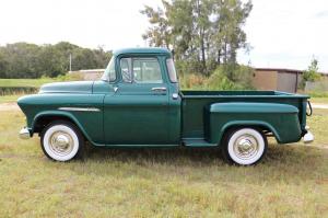
<svg viewBox="0 0 328 218">
<path fill-rule="evenodd" d="M 144 47 L 143 5 L 161 0 L 0 0 L 0 45 L 15 42 L 105 49 Z M 328 72 L 327 0 L 253 0 L 244 30 L 251 49 L 238 61 L 253 67 L 306 69 L 313 57 Z"/>
</svg>

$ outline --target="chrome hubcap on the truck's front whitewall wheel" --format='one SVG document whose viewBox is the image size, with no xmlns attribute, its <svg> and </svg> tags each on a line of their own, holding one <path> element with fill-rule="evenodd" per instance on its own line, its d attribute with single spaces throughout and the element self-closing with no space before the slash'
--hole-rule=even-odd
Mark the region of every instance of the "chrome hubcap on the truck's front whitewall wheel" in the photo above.
<svg viewBox="0 0 328 218">
<path fill-rule="evenodd" d="M 73 138 L 65 131 L 55 131 L 49 138 L 50 149 L 58 156 L 67 156 L 73 150 Z"/>
</svg>

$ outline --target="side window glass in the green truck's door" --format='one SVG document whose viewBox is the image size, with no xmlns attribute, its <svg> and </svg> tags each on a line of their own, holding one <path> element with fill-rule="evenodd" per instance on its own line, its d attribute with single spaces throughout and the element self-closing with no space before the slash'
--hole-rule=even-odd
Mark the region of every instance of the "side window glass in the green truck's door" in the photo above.
<svg viewBox="0 0 328 218">
<path fill-rule="evenodd" d="M 156 58 L 121 58 L 120 71 L 124 82 L 163 83 Z"/>
</svg>

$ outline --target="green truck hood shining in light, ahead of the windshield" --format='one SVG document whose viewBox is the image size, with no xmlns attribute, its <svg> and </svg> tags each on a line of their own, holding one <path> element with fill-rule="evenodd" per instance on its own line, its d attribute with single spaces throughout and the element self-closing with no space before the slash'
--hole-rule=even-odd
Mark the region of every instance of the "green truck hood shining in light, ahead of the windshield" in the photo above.
<svg viewBox="0 0 328 218">
<path fill-rule="evenodd" d="M 92 93 L 93 81 L 54 82 L 42 85 L 39 93 Z"/>
</svg>

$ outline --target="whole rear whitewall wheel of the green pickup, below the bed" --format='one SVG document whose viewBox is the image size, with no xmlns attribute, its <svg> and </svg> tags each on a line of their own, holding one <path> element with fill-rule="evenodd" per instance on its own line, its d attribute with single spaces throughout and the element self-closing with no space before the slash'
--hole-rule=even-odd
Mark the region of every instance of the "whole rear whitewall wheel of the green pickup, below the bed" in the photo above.
<svg viewBox="0 0 328 218">
<path fill-rule="evenodd" d="M 262 159 L 268 148 L 268 141 L 259 130 L 239 128 L 226 133 L 222 146 L 225 161 L 238 165 L 251 165 Z"/>
</svg>

